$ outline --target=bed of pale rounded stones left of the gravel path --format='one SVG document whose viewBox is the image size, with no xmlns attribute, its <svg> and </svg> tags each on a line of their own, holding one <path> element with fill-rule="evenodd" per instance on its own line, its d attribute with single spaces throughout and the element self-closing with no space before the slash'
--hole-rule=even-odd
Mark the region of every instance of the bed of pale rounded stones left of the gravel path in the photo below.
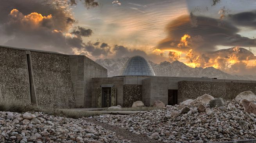
<svg viewBox="0 0 256 143">
<path fill-rule="evenodd" d="M 126 143 L 115 132 L 84 119 L 43 113 L 0 112 L 0 143 Z"/>
</svg>

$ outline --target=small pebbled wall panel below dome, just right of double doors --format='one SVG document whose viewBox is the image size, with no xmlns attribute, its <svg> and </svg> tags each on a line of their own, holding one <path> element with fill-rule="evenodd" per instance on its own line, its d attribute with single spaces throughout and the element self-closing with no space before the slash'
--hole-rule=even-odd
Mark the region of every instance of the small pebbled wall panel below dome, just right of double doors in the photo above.
<svg viewBox="0 0 256 143">
<path fill-rule="evenodd" d="M 131 107 L 135 101 L 141 101 L 142 85 L 124 85 L 124 107 Z"/>
</svg>

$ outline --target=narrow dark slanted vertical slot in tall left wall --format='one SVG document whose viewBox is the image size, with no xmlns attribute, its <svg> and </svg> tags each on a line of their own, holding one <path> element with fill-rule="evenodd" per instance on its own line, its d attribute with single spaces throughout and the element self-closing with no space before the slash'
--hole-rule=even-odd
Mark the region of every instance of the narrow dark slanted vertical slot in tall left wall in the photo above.
<svg viewBox="0 0 256 143">
<path fill-rule="evenodd" d="M 32 67 L 31 67 L 31 61 L 30 61 L 30 54 L 27 54 L 27 66 L 28 66 L 28 72 L 29 72 L 29 90 L 30 90 L 30 100 L 31 104 L 37 105 L 36 102 L 36 92 L 34 88 L 34 80 L 32 76 Z"/>
</svg>

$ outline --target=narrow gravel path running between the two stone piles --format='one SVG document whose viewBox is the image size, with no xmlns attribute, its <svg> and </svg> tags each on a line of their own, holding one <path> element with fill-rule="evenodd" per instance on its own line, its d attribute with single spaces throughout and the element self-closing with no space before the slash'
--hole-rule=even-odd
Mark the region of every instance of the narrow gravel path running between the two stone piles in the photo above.
<svg viewBox="0 0 256 143">
<path fill-rule="evenodd" d="M 88 122 L 92 122 L 96 125 L 102 126 L 104 129 L 106 129 L 108 131 L 113 131 L 117 135 L 122 136 L 127 140 L 131 140 L 132 143 L 162 143 L 160 141 L 150 139 L 147 136 L 137 135 L 137 134 L 131 133 L 125 129 L 121 129 L 119 127 L 115 127 L 115 126 L 111 126 L 111 125 L 103 123 L 103 122 L 99 122 L 95 118 L 86 119 L 86 120 Z"/>
</svg>

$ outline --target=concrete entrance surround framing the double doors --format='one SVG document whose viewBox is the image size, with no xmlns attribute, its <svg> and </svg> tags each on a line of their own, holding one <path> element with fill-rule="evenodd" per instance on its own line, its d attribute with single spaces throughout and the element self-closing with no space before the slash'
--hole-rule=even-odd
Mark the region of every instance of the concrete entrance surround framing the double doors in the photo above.
<svg viewBox="0 0 256 143">
<path fill-rule="evenodd" d="M 97 87 L 102 84 L 113 84 L 116 87 L 116 105 L 123 106 L 124 77 L 93 78 L 92 107 L 96 107 Z"/>
</svg>

